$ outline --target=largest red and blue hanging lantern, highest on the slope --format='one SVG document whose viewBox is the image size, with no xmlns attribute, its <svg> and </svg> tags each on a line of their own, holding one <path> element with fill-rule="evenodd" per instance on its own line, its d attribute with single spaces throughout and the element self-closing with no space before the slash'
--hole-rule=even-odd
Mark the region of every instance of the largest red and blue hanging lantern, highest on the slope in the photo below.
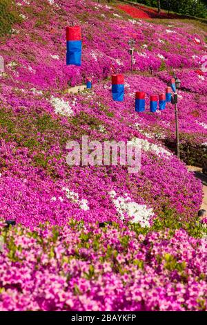
<svg viewBox="0 0 207 325">
<path fill-rule="evenodd" d="M 66 27 L 66 64 L 74 64 L 75 66 L 81 66 L 81 28 L 80 26 Z"/>
</svg>

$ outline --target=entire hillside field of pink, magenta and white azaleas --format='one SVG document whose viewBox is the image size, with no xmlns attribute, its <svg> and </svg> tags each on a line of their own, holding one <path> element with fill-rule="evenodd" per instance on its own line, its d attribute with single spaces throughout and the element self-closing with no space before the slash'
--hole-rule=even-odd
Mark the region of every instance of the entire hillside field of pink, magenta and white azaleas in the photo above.
<svg viewBox="0 0 207 325">
<path fill-rule="evenodd" d="M 181 154 L 198 163 L 184 150 L 199 147 L 206 162 L 206 34 L 190 21 L 130 17 L 119 3 L 69 2 L 18 0 L 19 23 L 1 37 L 0 310 L 206 310 L 201 182 L 166 147 L 174 106 L 149 109 L 175 69 Z M 80 67 L 66 66 L 72 23 L 82 30 Z M 124 73 L 124 102 L 112 100 L 112 73 Z M 68 93 L 86 77 L 92 90 Z M 146 92 L 143 113 L 135 91 Z M 86 135 L 139 141 L 138 174 L 69 167 L 66 143 Z"/>
</svg>

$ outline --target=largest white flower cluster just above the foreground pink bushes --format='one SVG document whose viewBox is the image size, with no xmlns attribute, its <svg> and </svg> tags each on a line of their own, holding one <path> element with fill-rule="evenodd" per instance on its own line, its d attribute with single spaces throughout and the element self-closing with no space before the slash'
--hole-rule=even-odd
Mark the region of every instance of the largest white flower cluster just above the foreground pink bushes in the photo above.
<svg viewBox="0 0 207 325">
<path fill-rule="evenodd" d="M 119 196 L 115 191 L 111 191 L 110 197 L 120 214 L 120 219 L 124 219 L 124 214 L 128 214 L 132 218 L 132 223 L 140 223 L 141 227 L 150 227 L 150 218 L 154 216 L 152 209 L 148 208 L 145 204 L 138 204 L 131 200 L 128 194 Z"/>
</svg>

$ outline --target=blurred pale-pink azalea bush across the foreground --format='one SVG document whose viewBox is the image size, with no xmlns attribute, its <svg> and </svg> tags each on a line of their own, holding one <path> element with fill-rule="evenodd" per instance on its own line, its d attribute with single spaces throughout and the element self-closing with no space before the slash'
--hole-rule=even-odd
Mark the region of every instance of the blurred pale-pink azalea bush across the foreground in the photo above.
<svg viewBox="0 0 207 325">
<path fill-rule="evenodd" d="M 205 310 L 206 239 L 75 223 L 1 230 L 0 310 Z"/>
</svg>

